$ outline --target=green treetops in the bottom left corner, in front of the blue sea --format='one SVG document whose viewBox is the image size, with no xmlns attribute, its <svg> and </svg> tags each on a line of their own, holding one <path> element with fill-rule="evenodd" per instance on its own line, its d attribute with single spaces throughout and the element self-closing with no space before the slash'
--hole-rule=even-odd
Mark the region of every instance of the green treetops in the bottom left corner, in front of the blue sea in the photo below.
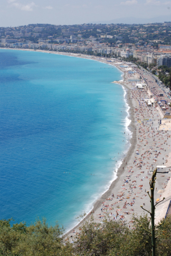
<svg viewBox="0 0 171 256">
<path fill-rule="evenodd" d="M 43 219 L 28 227 L 25 223 L 10 226 L 11 221 L 0 222 L 0 255 L 60 255 L 62 229 L 59 225 L 48 226 Z"/>
</svg>

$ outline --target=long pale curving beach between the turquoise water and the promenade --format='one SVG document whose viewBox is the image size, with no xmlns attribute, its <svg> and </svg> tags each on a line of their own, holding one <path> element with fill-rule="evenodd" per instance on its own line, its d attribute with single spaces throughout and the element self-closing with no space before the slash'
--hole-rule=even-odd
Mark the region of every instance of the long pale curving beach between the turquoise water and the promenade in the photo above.
<svg viewBox="0 0 171 256">
<path fill-rule="evenodd" d="M 21 49 L 26 50 L 26 49 Z M 28 49 L 28 51 L 34 51 Z M 36 50 L 39 51 L 39 50 Z M 89 58 L 103 63 L 114 65 L 124 73 L 123 80 L 117 83 L 124 86 L 126 89 L 126 101 L 130 106 L 129 119 L 131 119 L 130 134 L 130 149 L 127 155 L 122 160 L 122 164 L 117 172 L 117 178 L 112 182 L 107 192 L 103 193 L 101 197 L 94 203 L 93 209 L 87 216 L 70 232 L 65 234 L 65 237 L 74 237 L 79 233 L 80 226 L 84 221 L 93 214 L 94 220 L 102 222 L 105 217 L 111 220 L 127 221 L 131 228 L 132 214 L 146 213 L 141 209 L 141 205 L 147 210 L 151 209 L 147 191 L 149 191 L 149 180 L 152 176 L 152 171 L 156 166 L 167 165 L 167 169 L 160 170 L 157 173 L 155 200 L 166 200 L 157 205 L 156 208 L 156 222 L 159 222 L 162 217 L 165 217 L 166 210 L 171 198 L 171 190 L 169 190 L 168 183 L 170 183 L 170 146 L 171 146 L 171 130 L 170 119 L 162 119 L 160 112 L 153 106 L 147 106 L 144 99 L 151 98 L 157 94 L 158 85 L 151 75 L 145 74 L 143 69 L 138 69 L 130 65 L 127 69 L 127 63 L 120 63 L 118 60 L 109 62 L 110 59 L 99 58 L 95 56 L 87 56 L 72 53 L 49 52 L 47 53 L 68 55 L 74 57 Z M 120 67 L 120 65 L 122 67 Z M 136 71 L 135 73 L 130 72 Z M 136 80 L 141 77 L 146 79 L 148 88 L 137 89 Z M 129 81 L 132 80 L 132 81 Z M 113 81 L 111 81 L 113 82 Z M 116 82 L 116 81 L 115 81 Z M 115 85 L 114 82 L 114 85 Z M 151 86 L 150 86 L 151 85 Z M 151 88 L 155 87 L 156 91 L 151 92 Z M 160 88 L 159 88 L 160 89 Z M 161 126 L 160 126 L 160 119 Z M 170 168 L 169 168 L 170 167 Z M 163 171 L 167 171 L 162 173 Z"/>
</svg>

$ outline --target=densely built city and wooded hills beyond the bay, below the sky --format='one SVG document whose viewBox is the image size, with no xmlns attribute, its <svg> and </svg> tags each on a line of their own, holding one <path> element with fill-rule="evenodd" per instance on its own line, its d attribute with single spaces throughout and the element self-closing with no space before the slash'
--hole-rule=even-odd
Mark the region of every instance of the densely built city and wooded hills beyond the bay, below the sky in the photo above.
<svg viewBox="0 0 171 256">
<path fill-rule="evenodd" d="M 1 47 L 48 49 L 119 58 L 132 56 L 148 64 L 171 65 L 171 22 L 72 26 L 28 24 L 0 27 L 0 39 Z"/>
</svg>

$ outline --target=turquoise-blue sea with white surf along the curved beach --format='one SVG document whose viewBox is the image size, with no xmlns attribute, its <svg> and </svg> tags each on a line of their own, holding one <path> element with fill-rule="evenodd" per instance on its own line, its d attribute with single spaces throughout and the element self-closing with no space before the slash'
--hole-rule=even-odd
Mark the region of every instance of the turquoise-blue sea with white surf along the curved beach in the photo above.
<svg viewBox="0 0 171 256">
<path fill-rule="evenodd" d="M 119 69 L 89 58 L 0 49 L 0 219 L 67 232 L 89 213 L 130 147 L 114 80 Z"/>
</svg>

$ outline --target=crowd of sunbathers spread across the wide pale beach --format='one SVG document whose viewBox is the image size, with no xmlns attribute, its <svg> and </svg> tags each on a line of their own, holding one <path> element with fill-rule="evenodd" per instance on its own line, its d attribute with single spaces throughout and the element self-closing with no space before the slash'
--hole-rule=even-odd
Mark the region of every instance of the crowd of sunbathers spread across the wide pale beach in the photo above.
<svg viewBox="0 0 171 256">
<path fill-rule="evenodd" d="M 124 68 L 121 68 L 122 71 Z M 160 113 L 156 106 L 148 106 L 145 99 L 154 97 L 160 100 L 160 88 L 155 81 L 144 80 L 148 88 L 139 89 L 136 87 L 136 81 L 127 79 L 135 77 L 143 78 L 143 71 L 135 68 L 136 72 L 125 72 L 124 80 L 120 82 L 128 86 L 127 99 L 132 102 L 132 112 L 134 113 L 134 133 L 136 136 L 136 147 L 133 156 L 124 159 L 122 164 L 123 182 L 120 187 L 112 188 L 111 196 L 104 200 L 101 207 L 90 212 L 95 221 L 103 222 L 107 217 L 110 220 L 127 221 L 131 228 L 132 213 L 143 213 L 140 205 L 149 207 L 149 180 L 152 172 L 157 165 L 164 165 L 168 162 L 170 151 L 170 130 L 160 130 Z M 139 73 L 138 73 L 139 72 Z M 157 174 L 157 183 L 155 200 L 160 201 L 162 192 L 170 180 L 170 169 L 167 173 Z M 159 198 L 157 198 L 159 197 Z"/>
</svg>

